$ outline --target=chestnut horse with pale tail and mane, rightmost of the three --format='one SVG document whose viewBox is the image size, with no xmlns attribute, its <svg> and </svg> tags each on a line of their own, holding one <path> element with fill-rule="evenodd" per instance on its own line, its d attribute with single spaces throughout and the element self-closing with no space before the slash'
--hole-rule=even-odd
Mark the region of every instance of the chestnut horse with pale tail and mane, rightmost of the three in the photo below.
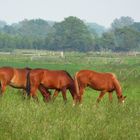
<svg viewBox="0 0 140 140">
<path fill-rule="evenodd" d="M 81 70 L 75 74 L 75 86 L 79 95 L 79 102 L 82 102 L 84 89 L 88 86 L 101 91 L 97 102 L 100 102 L 106 92 L 109 93 L 109 100 L 112 101 L 112 92 L 116 91 L 118 101 L 124 102 L 126 96 L 122 95 L 122 89 L 115 74 L 99 73 L 92 70 Z"/>
</svg>

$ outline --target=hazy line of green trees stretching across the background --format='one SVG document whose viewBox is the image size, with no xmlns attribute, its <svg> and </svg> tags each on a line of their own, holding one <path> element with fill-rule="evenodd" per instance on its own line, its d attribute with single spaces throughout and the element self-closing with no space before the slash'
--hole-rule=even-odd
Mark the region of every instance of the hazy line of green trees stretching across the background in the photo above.
<svg viewBox="0 0 140 140">
<path fill-rule="evenodd" d="M 73 16 L 61 22 L 33 19 L 7 25 L 0 21 L 0 51 L 13 49 L 140 51 L 140 22 L 120 17 L 105 29 Z"/>
</svg>

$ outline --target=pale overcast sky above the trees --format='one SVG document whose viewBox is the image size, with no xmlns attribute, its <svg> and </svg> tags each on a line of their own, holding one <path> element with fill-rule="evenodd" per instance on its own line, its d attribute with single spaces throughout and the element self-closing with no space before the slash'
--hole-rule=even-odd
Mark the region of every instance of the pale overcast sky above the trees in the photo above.
<svg viewBox="0 0 140 140">
<path fill-rule="evenodd" d="M 121 16 L 140 22 L 140 0 L 0 0 L 0 20 L 9 24 L 33 18 L 62 21 L 68 16 L 106 27 Z"/>
</svg>

